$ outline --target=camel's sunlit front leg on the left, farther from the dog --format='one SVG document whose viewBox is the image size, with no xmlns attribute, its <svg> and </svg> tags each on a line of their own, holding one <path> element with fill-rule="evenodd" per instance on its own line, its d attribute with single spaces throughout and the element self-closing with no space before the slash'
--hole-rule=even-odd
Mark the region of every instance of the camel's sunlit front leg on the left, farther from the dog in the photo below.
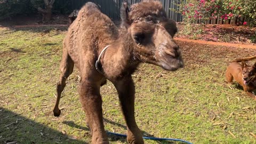
<svg viewBox="0 0 256 144">
<path fill-rule="evenodd" d="M 91 129 L 92 143 L 109 143 L 103 126 L 100 84 L 82 80 L 79 94 Z"/>
</svg>

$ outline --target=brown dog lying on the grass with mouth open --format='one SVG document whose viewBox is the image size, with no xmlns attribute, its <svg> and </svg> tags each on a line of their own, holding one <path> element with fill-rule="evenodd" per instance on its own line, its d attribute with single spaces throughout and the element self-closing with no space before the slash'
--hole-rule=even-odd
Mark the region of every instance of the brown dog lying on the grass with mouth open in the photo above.
<svg viewBox="0 0 256 144">
<path fill-rule="evenodd" d="M 228 83 L 232 83 L 235 79 L 239 85 L 243 86 L 246 94 L 256 100 L 256 95 L 252 93 L 253 90 L 256 90 L 256 62 L 253 66 L 246 65 L 244 61 L 242 61 L 242 65 L 238 62 L 230 63 L 226 71 L 226 78 Z"/>
</svg>

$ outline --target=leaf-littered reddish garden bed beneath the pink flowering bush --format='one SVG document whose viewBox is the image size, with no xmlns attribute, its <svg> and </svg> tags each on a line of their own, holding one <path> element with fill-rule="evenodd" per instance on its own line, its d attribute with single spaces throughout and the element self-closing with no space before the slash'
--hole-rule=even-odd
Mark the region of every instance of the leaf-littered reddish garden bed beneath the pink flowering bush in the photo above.
<svg viewBox="0 0 256 144">
<path fill-rule="evenodd" d="M 187 35 L 184 23 L 178 22 L 179 38 L 200 39 L 203 41 L 226 42 L 233 44 L 256 45 L 256 28 L 234 25 L 192 25 Z"/>
</svg>

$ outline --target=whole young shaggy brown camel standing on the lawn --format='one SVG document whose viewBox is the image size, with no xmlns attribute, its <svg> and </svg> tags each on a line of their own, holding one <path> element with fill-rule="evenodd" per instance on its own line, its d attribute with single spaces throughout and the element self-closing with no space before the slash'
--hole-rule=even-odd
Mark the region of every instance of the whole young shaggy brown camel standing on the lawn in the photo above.
<svg viewBox="0 0 256 144">
<path fill-rule="evenodd" d="M 92 143 L 108 143 L 100 95 L 100 86 L 106 83 L 106 79 L 117 89 L 127 124 L 127 141 L 143 143 L 134 117 L 135 86 L 131 74 L 141 62 L 172 71 L 183 67 L 179 46 L 173 41 L 177 27 L 174 21 L 167 19 L 161 2 L 140 2 L 132 5 L 131 10 L 125 3 L 121 18 L 122 25 L 118 30 L 97 5 L 86 3 L 63 40 L 54 116 L 60 115 L 61 92 L 76 65 L 81 72 L 79 94 L 91 129 Z M 95 69 L 95 61 L 107 45 L 110 46 L 100 58 L 102 75 Z"/>
</svg>

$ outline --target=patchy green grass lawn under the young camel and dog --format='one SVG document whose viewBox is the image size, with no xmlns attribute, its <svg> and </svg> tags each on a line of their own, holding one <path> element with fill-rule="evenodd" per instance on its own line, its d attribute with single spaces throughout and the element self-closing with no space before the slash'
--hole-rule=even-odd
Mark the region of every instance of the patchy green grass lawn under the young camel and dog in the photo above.
<svg viewBox="0 0 256 144">
<path fill-rule="evenodd" d="M 66 28 L 0 28 L 0 143 L 90 143 L 75 69 L 52 108 Z M 256 143 L 256 101 L 225 82 L 229 61 L 256 50 L 178 42 L 185 68 L 143 63 L 134 73 L 135 118 L 145 135 L 193 143 Z M 113 84 L 102 86 L 105 129 L 125 133 Z M 110 143 L 126 143 L 109 135 Z M 145 140 L 145 143 L 168 143 Z"/>
</svg>

